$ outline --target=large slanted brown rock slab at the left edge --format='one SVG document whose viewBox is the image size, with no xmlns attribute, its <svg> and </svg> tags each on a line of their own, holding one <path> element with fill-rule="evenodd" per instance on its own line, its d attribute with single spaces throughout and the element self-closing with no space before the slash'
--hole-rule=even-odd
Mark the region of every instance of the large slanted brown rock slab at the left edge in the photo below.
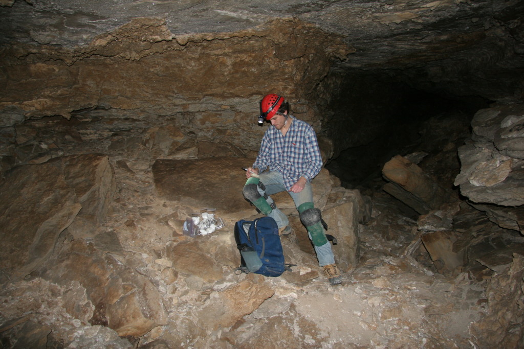
<svg viewBox="0 0 524 349">
<path fill-rule="evenodd" d="M 71 232 L 94 237 L 114 189 L 105 155 L 71 155 L 14 168 L 0 187 L 2 268 L 14 279 L 31 273 L 77 218 L 81 222 Z"/>
</svg>

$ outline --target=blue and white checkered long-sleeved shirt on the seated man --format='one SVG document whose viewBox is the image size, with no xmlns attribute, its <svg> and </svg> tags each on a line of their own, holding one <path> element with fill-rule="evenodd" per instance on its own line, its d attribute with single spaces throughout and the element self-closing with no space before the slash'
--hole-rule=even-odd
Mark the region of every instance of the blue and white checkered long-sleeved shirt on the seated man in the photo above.
<svg viewBox="0 0 524 349">
<path fill-rule="evenodd" d="M 282 136 L 282 132 L 275 126 L 269 126 L 253 164 L 253 168 L 258 168 L 260 172 L 266 170 L 267 166 L 270 171 L 280 172 L 288 191 L 301 176 L 311 181 L 322 168 L 315 131 L 309 123 L 293 116 L 289 118 L 293 122 L 286 136 Z"/>
</svg>

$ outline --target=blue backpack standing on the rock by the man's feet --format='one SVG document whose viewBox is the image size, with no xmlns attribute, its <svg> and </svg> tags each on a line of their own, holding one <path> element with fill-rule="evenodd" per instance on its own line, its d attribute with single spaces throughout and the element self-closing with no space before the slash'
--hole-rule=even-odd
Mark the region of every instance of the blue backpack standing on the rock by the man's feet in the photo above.
<svg viewBox="0 0 524 349">
<path fill-rule="evenodd" d="M 235 269 L 236 274 L 256 273 L 275 277 L 289 269 L 289 265 L 284 264 L 277 222 L 271 217 L 237 221 L 235 241 L 241 259 L 240 266 Z"/>
</svg>

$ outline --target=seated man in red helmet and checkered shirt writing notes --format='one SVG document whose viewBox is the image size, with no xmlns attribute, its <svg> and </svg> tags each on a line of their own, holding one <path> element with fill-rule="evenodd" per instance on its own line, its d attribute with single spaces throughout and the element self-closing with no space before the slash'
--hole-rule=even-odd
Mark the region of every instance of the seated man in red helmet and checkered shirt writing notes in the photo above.
<svg viewBox="0 0 524 349">
<path fill-rule="evenodd" d="M 300 220 L 308 230 L 319 265 L 331 285 L 342 283 L 331 244 L 322 226 L 320 210 L 313 206 L 311 179 L 322 168 L 322 157 L 316 134 L 306 122 L 289 115 L 289 103 L 276 94 L 260 101 L 259 122 L 271 126 L 264 133 L 255 163 L 246 171 L 244 197 L 264 215 L 278 224 L 279 234 L 291 232 L 289 220 L 268 196 L 286 190 L 294 201 Z M 269 166 L 269 171 L 264 172 Z"/>
</svg>

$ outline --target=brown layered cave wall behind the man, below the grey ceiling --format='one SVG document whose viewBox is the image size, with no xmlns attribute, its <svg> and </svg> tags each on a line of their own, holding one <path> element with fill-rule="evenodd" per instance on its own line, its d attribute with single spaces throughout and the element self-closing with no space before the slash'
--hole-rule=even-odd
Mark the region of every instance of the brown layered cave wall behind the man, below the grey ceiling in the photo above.
<svg viewBox="0 0 524 349">
<path fill-rule="evenodd" d="M 141 18 L 88 46 L 2 50 L 2 127 L 97 109 L 101 117 L 157 122 L 169 117 L 187 132 L 198 130 L 202 140 L 256 151 L 258 100 L 280 93 L 293 112 L 319 129 L 312 91 L 330 61 L 351 49 L 295 19 L 241 32 L 174 37 L 165 20 Z"/>
</svg>

